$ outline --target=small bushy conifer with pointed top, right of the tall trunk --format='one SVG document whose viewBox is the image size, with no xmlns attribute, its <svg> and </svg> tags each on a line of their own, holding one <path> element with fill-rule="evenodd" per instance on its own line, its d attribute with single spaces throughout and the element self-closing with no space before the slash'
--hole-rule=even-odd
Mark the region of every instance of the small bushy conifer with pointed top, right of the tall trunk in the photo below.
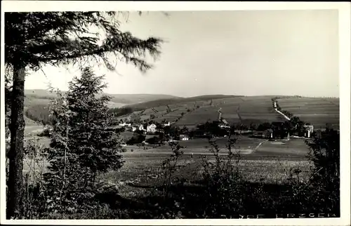
<svg viewBox="0 0 351 226">
<path fill-rule="evenodd" d="M 86 206 L 94 194 L 98 173 L 121 168 L 117 122 L 108 112 L 110 97 L 102 96 L 103 77 L 90 68 L 82 69 L 81 78 L 69 83 L 66 96 L 53 107 L 55 122 L 48 149 L 51 173 L 46 173 L 53 208 Z"/>
</svg>

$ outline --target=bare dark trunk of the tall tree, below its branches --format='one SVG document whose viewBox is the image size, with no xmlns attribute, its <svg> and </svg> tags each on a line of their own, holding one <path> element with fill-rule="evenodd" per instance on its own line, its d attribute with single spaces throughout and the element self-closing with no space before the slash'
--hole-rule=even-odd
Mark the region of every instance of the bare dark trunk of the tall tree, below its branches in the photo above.
<svg viewBox="0 0 351 226">
<path fill-rule="evenodd" d="M 20 60 L 18 60 L 20 62 Z M 23 187 L 23 136 L 25 119 L 23 107 L 25 100 L 25 67 L 21 64 L 13 66 L 13 96 L 11 103 L 11 147 L 8 153 L 10 160 L 8 171 L 8 206 L 7 218 L 18 217 Z"/>
</svg>

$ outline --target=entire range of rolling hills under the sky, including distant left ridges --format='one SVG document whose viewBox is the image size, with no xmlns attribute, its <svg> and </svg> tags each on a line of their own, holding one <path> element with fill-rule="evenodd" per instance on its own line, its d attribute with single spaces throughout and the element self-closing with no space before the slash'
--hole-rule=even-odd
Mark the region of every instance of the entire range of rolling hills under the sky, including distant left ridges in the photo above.
<svg viewBox="0 0 351 226">
<path fill-rule="evenodd" d="M 44 90 L 27 90 L 25 95 L 25 108 L 32 109 L 32 114 L 39 118 L 47 114 L 47 109 L 44 108 L 55 97 L 54 93 Z M 190 128 L 208 120 L 218 119 L 219 109 L 222 112 L 221 116 L 230 124 L 241 123 L 249 126 L 286 120 L 272 107 L 271 99 L 275 95 L 201 95 L 191 98 L 148 94 L 112 94 L 110 96 L 112 96 L 110 108 L 129 107 L 133 114 L 140 114 L 142 120 L 154 117 L 155 121 L 166 120 L 173 122 L 176 126 Z M 279 96 L 278 102 L 282 110 L 291 112 L 303 121 L 314 125 L 315 128 L 325 128 L 326 124 L 331 128 L 339 128 L 339 98 Z M 119 119 L 125 119 L 128 115 L 122 115 Z M 37 119 L 37 117 L 31 118 Z"/>
</svg>

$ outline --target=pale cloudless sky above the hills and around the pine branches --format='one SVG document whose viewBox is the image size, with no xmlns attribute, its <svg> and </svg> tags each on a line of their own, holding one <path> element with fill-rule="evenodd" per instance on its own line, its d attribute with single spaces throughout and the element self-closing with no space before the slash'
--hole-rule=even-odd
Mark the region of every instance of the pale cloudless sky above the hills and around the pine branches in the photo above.
<svg viewBox="0 0 351 226">
<path fill-rule="evenodd" d="M 121 30 L 164 39 L 146 74 L 121 62 L 106 93 L 339 97 L 338 11 L 175 11 L 121 17 Z M 62 91 L 77 67 L 29 72 L 26 89 Z"/>
</svg>

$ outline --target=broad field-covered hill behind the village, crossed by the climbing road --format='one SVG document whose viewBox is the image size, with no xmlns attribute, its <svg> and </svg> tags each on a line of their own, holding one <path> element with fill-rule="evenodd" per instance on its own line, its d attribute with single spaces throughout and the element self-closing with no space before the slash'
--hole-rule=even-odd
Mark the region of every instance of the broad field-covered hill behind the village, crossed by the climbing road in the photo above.
<svg viewBox="0 0 351 226">
<path fill-rule="evenodd" d="M 265 96 L 201 96 L 183 98 L 178 100 L 157 100 L 144 102 L 132 107 L 134 114 L 141 113 L 141 119 L 155 117 L 155 121 L 171 121 L 176 126 L 194 127 L 208 120 L 218 119 L 218 110 L 221 116 L 230 124 L 271 123 L 285 121 L 281 114 L 274 111 L 272 98 L 274 95 Z M 339 128 L 338 98 L 303 98 L 298 96 L 283 96 L 279 98 L 282 109 L 293 113 L 315 128 Z M 168 106 L 167 106 L 168 105 Z M 169 107 L 169 108 L 168 108 Z M 127 115 L 126 115 L 127 116 Z M 126 116 L 119 118 L 124 119 Z"/>
</svg>

